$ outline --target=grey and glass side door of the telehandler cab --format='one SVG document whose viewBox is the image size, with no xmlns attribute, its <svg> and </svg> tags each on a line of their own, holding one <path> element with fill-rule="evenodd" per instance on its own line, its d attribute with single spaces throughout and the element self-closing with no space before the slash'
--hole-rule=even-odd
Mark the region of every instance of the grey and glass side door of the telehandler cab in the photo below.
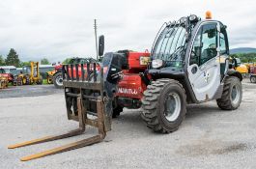
<svg viewBox="0 0 256 169">
<path fill-rule="evenodd" d="M 220 85 L 217 27 L 218 22 L 203 23 L 190 50 L 188 79 L 198 101 L 213 99 Z"/>
</svg>

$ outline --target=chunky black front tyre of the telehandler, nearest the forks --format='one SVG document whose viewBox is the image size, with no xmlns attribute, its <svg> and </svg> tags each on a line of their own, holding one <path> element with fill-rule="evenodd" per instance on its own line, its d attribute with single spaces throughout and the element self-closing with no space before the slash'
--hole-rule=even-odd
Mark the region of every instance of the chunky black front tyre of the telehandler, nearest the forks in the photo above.
<svg viewBox="0 0 256 169">
<path fill-rule="evenodd" d="M 178 111 L 178 115 L 176 115 L 176 118 L 173 121 L 168 121 L 166 117 L 167 115 L 165 102 L 169 96 L 174 94 L 180 99 L 180 108 L 178 108 L 178 110 L 180 110 Z M 162 78 L 157 79 L 156 81 L 153 81 L 151 85 L 148 85 L 142 99 L 141 113 L 141 117 L 145 121 L 147 127 L 161 133 L 169 133 L 175 131 L 184 121 L 185 113 L 185 89 L 181 83 L 174 79 Z"/>
</svg>

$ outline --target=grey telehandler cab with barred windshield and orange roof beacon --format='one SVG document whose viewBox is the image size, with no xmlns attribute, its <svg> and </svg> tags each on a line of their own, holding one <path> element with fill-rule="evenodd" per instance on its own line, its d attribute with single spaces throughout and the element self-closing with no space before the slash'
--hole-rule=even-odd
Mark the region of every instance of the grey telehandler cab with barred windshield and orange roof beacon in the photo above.
<svg viewBox="0 0 256 169">
<path fill-rule="evenodd" d="M 207 101 L 216 97 L 229 69 L 228 55 L 226 26 L 210 15 L 202 20 L 191 14 L 162 26 L 148 71 L 153 79 L 179 80 L 189 101 Z"/>
</svg>

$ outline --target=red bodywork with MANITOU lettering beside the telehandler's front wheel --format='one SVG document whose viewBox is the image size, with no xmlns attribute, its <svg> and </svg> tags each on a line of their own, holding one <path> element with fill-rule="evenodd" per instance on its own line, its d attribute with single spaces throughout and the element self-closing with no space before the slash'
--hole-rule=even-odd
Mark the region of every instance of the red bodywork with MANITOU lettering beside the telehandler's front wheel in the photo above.
<svg viewBox="0 0 256 169">
<path fill-rule="evenodd" d="M 142 99 L 147 86 L 142 80 L 140 72 L 147 69 L 149 59 L 149 52 L 128 52 L 128 70 L 123 70 L 124 77 L 118 83 L 116 97 Z"/>
</svg>

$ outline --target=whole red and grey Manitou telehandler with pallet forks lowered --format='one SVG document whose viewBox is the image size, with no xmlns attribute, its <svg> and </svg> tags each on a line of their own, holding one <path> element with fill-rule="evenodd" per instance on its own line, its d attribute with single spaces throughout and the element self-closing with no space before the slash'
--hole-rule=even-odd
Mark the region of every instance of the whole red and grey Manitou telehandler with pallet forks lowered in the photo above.
<svg viewBox="0 0 256 169">
<path fill-rule="evenodd" d="M 99 55 L 104 41 L 100 37 Z M 150 56 L 149 56 L 150 55 Z M 68 119 L 79 128 L 10 146 L 10 149 L 78 135 L 85 126 L 99 134 L 39 154 L 30 160 L 100 142 L 111 129 L 113 114 L 122 108 L 142 107 L 142 119 L 156 132 L 178 129 L 186 105 L 215 99 L 223 110 L 237 109 L 242 101 L 242 74 L 232 68 L 226 26 L 211 14 L 202 20 L 192 14 L 164 23 L 151 54 L 119 51 L 105 53 L 97 63 L 63 66 Z"/>
</svg>

